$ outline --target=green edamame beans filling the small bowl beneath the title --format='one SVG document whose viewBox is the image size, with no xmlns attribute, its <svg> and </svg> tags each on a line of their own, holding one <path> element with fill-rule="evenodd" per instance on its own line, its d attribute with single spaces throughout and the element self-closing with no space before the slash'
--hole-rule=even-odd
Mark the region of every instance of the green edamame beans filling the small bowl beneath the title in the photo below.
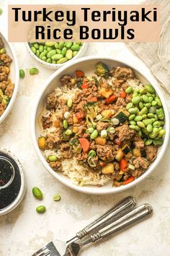
<svg viewBox="0 0 170 256">
<path fill-rule="evenodd" d="M 82 45 L 81 42 L 29 43 L 32 53 L 50 64 L 63 64 L 69 61 L 78 54 Z"/>
</svg>

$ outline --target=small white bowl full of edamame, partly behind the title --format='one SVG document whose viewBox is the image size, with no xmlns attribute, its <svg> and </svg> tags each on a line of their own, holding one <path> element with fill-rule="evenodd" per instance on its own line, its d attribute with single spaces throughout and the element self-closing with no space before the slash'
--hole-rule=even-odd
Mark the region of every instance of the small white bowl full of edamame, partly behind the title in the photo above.
<svg viewBox="0 0 170 256">
<path fill-rule="evenodd" d="M 44 67 L 59 69 L 68 61 L 84 56 L 87 43 L 26 43 L 29 54 Z"/>
</svg>

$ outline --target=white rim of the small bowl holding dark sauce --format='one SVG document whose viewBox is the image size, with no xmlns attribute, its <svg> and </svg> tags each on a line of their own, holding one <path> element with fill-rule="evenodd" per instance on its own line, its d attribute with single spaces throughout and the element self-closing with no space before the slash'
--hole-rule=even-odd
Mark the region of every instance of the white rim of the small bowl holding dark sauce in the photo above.
<svg viewBox="0 0 170 256">
<path fill-rule="evenodd" d="M 14 159 L 14 161 L 17 163 L 17 166 L 19 167 L 19 173 L 21 175 L 21 187 L 19 190 L 19 194 L 15 198 L 14 202 L 12 202 L 9 206 L 4 208 L 4 210 L 0 210 L 0 216 L 2 216 L 17 208 L 20 202 L 22 202 L 22 199 L 24 198 L 26 192 L 26 179 L 24 176 L 22 164 L 19 162 L 18 158 L 10 150 L 7 150 L 6 148 L 0 148 L 0 152 L 9 155 L 12 159 Z"/>
</svg>

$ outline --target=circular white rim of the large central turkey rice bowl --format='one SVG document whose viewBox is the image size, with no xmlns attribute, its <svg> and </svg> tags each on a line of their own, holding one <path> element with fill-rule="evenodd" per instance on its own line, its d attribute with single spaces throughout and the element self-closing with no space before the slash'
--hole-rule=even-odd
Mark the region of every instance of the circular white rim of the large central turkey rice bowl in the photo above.
<svg viewBox="0 0 170 256">
<path fill-rule="evenodd" d="M 37 114 L 37 107 L 40 103 L 40 100 L 42 98 L 42 94 L 45 92 L 45 90 L 48 88 L 48 85 L 50 84 L 50 82 L 55 79 L 56 76 L 58 76 L 58 74 L 60 74 L 61 72 L 63 72 L 63 70 L 67 69 L 68 67 L 70 67 L 73 64 L 77 64 L 77 63 L 81 63 L 87 60 L 102 60 L 104 61 L 104 59 L 107 61 L 118 61 L 122 64 L 124 64 L 125 66 L 128 66 L 132 69 L 134 69 L 134 71 L 139 72 L 140 74 L 142 74 L 138 69 L 136 69 L 136 67 L 134 67 L 133 64 L 129 64 L 127 61 L 122 61 L 122 59 L 117 59 L 117 58 L 107 58 L 105 56 L 86 56 L 83 57 L 81 59 L 77 59 L 75 61 L 72 61 L 71 64 L 66 64 L 64 67 L 61 67 L 61 69 L 58 69 L 56 72 L 54 72 L 49 78 L 48 80 L 45 82 L 45 86 L 43 87 L 40 95 L 38 95 L 37 97 L 37 101 L 35 104 L 35 109 L 33 110 L 33 114 L 32 114 L 32 124 L 31 124 L 31 129 L 32 129 L 32 140 L 33 140 L 33 145 L 35 147 L 36 153 L 38 155 L 38 157 L 40 158 L 40 161 L 42 162 L 43 166 L 45 166 L 45 168 L 50 172 L 50 174 L 52 174 L 55 179 L 58 179 L 59 182 L 61 182 L 62 184 L 65 184 L 67 187 L 70 187 L 71 189 L 76 190 L 77 192 L 82 192 L 85 194 L 91 194 L 91 195 L 109 195 L 109 194 L 115 194 L 118 192 L 122 192 L 125 190 L 130 189 L 131 187 L 134 187 L 136 184 L 139 184 L 140 182 L 142 182 L 144 179 L 146 179 L 146 177 L 148 177 L 154 170 L 154 168 L 156 168 L 156 166 L 158 166 L 158 163 L 160 163 L 161 158 L 164 156 L 164 153 L 166 151 L 166 148 L 168 146 L 169 143 L 169 111 L 168 108 L 166 106 L 166 102 L 164 101 L 164 96 L 161 93 L 161 90 L 158 88 L 158 82 L 156 82 L 156 80 L 153 78 L 153 74 L 151 74 L 151 71 L 147 68 L 146 70 L 148 70 L 150 72 L 150 74 L 146 74 L 143 75 L 144 77 L 146 77 L 146 80 L 148 80 L 148 82 L 151 83 L 151 85 L 153 85 L 154 88 L 156 88 L 156 93 L 158 93 L 158 96 L 161 98 L 161 102 L 164 108 L 164 113 L 165 113 L 165 129 L 166 129 L 166 135 L 164 137 L 164 143 L 163 145 L 161 145 L 160 148 L 160 152 L 158 153 L 156 160 L 152 163 L 152 165 L 148 168 L 148 170 L 142 174 L 138 179 L 135 179 L 133 182 L 130 182 L 129 184 L 126 184 L 125 186 L 120 186 L 120 187 L 107 187 L 107 189 L 102 190 L 102 187 L 99 187 L 99 191 L 96 191 L 96 189 L 93 189 L 93 187 L 81 187 L 78 186 L 76 184 L 71 183 L 71 179 L 63 179 L 62 174 L 58 174 L 55 171 L 53 171 L 52 168 L 50 168 L 50 166 L 48 165 L 47 161 L 45 160 L 45 157 L 42 155 L 40 149 L 38 148 L 37 145 L 37 137 L 36 137 L 36 124 L 37 124 L 37 120 L 36 118 L 36 114 Z M 148 77 L 149 75 L 149 77 Z M 103 186 L 104 187 L 104 186 Z M 96 187 L 95 187 L 96 188 Z"/>
</svg>

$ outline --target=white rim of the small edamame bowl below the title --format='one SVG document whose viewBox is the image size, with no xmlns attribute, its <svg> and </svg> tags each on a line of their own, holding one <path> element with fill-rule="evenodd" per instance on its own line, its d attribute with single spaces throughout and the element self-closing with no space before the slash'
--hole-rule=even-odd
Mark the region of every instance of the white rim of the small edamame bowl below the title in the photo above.
<svg viewBox="0 0 170 256">
<path fill-rule="evenodd" d="M 25 43 L 26 47 L 27 47 L 27 51 L 29 52 L 29 54 L 32 56 L 32 58 L 34 58 L 36 61 L 38 61 L 40 64 L 42 64 L 44 67 L 48 67 L 50 69 L 59 69 L 61 67 L 63 67 L 64 65 L 68 64 L 68 62 L 70 63 L 70 61 L 73 61 L 75 59 L 79 59 L 81 56 L 83 56 L 83 54 L 85 54 L 86 52 L 86 48 L 88 46 L 88 43 L 83 43 L 83 45 L 81 46 L 81 49 L 78 51 L 78 54 L 76 54 L 76 56 L 74 56 L 72 59 L 62 63 L 62 64 L 52 64 L 52 63 L 48 63 L 45 61 L 42 61 L 42 59 L 38 58 L 32 51 L 31 48 L 29 46 L 29 43 Z"/>
</svg>

